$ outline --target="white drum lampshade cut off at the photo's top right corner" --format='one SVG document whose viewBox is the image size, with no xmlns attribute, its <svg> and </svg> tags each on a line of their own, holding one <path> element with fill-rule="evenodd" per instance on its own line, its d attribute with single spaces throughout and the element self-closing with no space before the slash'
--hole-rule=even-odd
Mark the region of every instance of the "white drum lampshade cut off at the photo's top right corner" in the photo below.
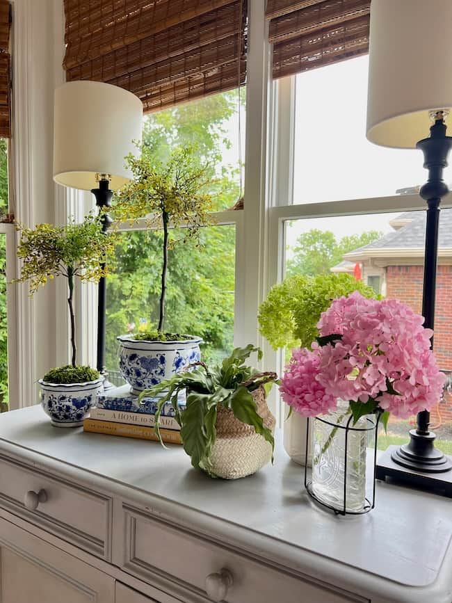
<svg viewBox="0 0 452 603">
<path fill-rule="evenodd" d="M 428 137 L 429 112 L 452 107 L 451 35 L 451 0 L 371 1 L 371 143 L 415 148 Z"/>
</svg>

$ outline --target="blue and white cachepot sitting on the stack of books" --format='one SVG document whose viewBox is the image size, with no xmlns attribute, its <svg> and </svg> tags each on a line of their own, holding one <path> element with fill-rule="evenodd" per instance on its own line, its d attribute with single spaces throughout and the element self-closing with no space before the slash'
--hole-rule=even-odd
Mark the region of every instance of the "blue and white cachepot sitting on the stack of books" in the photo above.
<svg viewBox="0 0 452 603">
<path fill-rule="evenodd" d="M 191 336 L 187 336 L 191 337 Z M 201 359 L 201 337 L 184 341 L 138 341 L 133 335 L 120 335 L 118 365 L 132 394 L 158 385 Z"/>
</svg>

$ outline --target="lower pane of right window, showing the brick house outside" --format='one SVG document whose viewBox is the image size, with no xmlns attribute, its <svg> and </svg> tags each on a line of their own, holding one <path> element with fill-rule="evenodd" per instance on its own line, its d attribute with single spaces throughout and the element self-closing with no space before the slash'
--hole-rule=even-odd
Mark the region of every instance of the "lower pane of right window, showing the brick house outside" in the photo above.
<svg viewBox="0 0 452 603">
<path fill-rule="evenodd" d="M 366 214 L 287 220 L 285 227 L 286 275 L 348 273 L 368 284 L 376 294 L 397 298 L 421 312 L 425 211 Z M 431 411 L 437 447 L 452 452 L 452 344 L 450 343 L 449 253 L 452 209 L 440 218 L 439 266 L 435 316 L 435 355 L 448 380 L 442 399 Z M 378 271 L 378 274 L 376 272 Z M 285 360 L 288 360 L 286 351 Z M 391 417 L 387 433 L 378 436 L 378 448 L 407 442 L 416 417 Z"/>
</svg>

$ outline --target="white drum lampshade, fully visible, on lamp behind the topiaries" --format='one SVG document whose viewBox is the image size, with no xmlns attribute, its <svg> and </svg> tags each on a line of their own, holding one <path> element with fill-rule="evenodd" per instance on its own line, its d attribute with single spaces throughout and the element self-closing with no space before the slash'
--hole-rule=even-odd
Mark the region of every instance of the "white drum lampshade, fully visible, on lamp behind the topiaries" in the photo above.
<svg viewBox="0 0 452 603">
<path fill-rule="evenodd" d="M 134 94 L 98 81 L 70 81 L 55 90 L 54 180 L 90 191 L 97 174 L 109 187 L 131 178 L 124 157 L 138 154 L 143 104 Z"/>
</svg>

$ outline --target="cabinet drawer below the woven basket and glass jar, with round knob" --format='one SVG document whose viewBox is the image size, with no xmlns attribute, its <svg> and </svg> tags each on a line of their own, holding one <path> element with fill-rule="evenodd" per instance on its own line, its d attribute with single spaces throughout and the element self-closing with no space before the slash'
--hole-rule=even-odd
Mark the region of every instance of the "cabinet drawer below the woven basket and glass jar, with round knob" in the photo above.
<svg viewBox="0 0 452 603">
<path fill-rule="evenodd" d="M 180 586 L 220 601 L 221 583 L 227 574 L 232 585 L 223 600 L 227 603 L 357 603 L 367 600 L 334 587 L 302 579 L 221 547 L 204 538 L 155 520 L 139 510 L 124 506 L 124 569 L 144 580 L 157 574 Z M 226 574 L 221 574 L 227 570 Z M 213 574 L 213 576 L 211 575 Z M 209 587 L 207 586 L 207 577 Z M 227 580 L 226 580 L 227 581 Z M 218 590 L 218 588 L 220 590 Z M 207 595 L 210 588 L 211 597 Z"/>
</svg>

